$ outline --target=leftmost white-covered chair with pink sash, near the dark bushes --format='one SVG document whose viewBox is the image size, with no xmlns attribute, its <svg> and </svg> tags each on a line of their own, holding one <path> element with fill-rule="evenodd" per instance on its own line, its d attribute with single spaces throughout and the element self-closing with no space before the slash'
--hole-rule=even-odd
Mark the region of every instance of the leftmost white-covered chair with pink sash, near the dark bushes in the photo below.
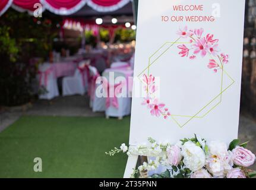
<svg viewBox="0 0 256 190">
<path fill-rule="evenodd" d="M 39 94 L 39 99 L 50 100 L 59 96 L 57 80 L 50 64 L 42 64 L 39 66 L 37 78 L 40 85 L 44 86 L 47 91 L 46 93 Z"/>
</svg>

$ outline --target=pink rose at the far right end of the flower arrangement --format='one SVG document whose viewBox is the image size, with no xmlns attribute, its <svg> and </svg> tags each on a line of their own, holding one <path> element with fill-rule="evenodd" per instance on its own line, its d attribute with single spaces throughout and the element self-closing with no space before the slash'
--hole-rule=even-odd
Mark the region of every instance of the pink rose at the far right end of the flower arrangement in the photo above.
<svg viewBox="0 0 256 190">
<path fill-rule="evenodd" d="M 238 166 L 249 167 L 255 162 L 255 155 L 243 147 L 236 147 L 232 152 L 233 162 Z"/>
</svg>

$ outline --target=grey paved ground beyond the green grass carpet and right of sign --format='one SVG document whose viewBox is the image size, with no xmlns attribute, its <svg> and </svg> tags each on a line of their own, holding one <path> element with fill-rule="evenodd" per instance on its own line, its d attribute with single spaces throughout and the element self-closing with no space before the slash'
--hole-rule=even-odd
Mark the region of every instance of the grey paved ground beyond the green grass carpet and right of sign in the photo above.
<svg viewBox="0 0 256 190">
<path fill-rule="evenodd" d="M 58 97 L 50 102 L 39 100 L 26 112 L 14 111 L 0 113 L 0 132 L 22 115 L 104 116 L 104 113 L 91 112 L 89 100 L 83 96 Z M 250 141 L 248 148 L 256 153 L 256 122 L 249 114 L 241 113 L 239 138 L 243 142 Z M 254 169 L 256 170 L 256 166 Z"/>
</svg>

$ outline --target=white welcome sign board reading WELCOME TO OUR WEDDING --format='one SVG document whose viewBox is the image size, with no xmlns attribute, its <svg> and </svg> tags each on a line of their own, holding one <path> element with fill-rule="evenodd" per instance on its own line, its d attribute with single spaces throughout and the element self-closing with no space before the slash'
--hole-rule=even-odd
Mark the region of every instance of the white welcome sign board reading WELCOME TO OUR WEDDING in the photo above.
<svg viewBox="0 0 256 190">
<path fill-rule="evenodd" d="M 237 138 L 244 9 L 244 0 L 139 1 L 134 77 L 147 97 L 132 100 L 130 145 Z"/>
</svg>

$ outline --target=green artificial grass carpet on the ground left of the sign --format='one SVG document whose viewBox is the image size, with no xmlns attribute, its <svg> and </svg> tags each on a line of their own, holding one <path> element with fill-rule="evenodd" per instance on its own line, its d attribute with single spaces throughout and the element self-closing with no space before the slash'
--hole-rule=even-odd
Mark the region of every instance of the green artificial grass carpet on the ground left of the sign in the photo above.
<svg viewBox="0 0 256 190">
<path fill-rule="evenodd" d="M 129 119 L 23 116 L 0 133 L 0 178 L 122 178 L 127 156 L 105 152 L 128 144 Z"/>
</svg>

